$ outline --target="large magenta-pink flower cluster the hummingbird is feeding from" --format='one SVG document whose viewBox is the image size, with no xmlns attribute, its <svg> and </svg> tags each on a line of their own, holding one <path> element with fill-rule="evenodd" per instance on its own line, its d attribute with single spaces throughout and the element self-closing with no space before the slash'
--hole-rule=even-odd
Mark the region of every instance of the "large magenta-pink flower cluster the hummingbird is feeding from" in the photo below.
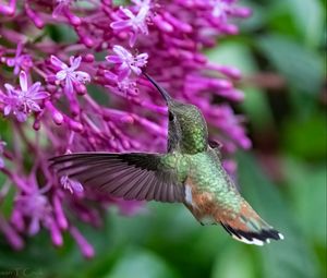
<svg viewBox="0 0 327 278">
<path fill-rule="evenodd" d="M 226 154 L 251 147 L 242 118 L 229 106 L 243 98 L 233 86 L 240 72 L 203 55 L 219 37 L 237 34 L 235 20 L 249 15 L 234 0 L 132 0 L 125 7 L 111 0 L 1 2 L 0 206 L 9 192 L 15 195 L 11 214 L 0 211 L 8 242 L 22 249 L 24 234 L 43 227 L 60 246 L 68 231 L 90 257 L 93 246 L 71 217 L 99 227 L 107 205 L 128 215 L 140 207 L 56 177 L 48 158 L 165 150 L 167 108 L 142 69 L 173 97 L 203 110 Z M 66 29 L 75 34 L 69 41 L 60 39 Z M 234 169 L 232 160 L 225 162 Z"/>
</svg>

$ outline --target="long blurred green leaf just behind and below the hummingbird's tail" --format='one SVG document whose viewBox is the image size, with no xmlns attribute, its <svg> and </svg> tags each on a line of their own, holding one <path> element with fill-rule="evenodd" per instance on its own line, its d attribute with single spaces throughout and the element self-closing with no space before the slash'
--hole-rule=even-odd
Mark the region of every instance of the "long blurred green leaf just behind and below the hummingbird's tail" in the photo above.
<svg viewBox="0 0 327 278">
<path fill-rule="evenodd" d="M 318 277 L 317 261 L 278 190 L 263 174 L 249 155 L 240 156 L 240 184 L 249 203 L 270 225 L 283 233 L 284 240 L 261 249 L 265 278 Z"/>
</svg>

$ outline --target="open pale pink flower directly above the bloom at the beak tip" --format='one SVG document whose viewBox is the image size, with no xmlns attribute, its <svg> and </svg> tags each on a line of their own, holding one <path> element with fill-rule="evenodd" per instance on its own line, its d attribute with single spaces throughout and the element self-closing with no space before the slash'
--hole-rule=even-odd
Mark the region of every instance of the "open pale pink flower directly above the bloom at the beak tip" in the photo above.
<svg viewBox="0 0 327 278">
<path fill-rule="evenodd" d="M 148 35 L 146 19 L 149 12 L 149 7 L 147 4 L 143 4 L 137 15 L 134 15 L 129 9 L 121 9 L 121 12 L 129 19 L 120 19 L 116 22 L 112 22 L 110 27 L 116 31 L 131 31 L 130 46 L 133 47 L 138 34 Z"/>
</svg>

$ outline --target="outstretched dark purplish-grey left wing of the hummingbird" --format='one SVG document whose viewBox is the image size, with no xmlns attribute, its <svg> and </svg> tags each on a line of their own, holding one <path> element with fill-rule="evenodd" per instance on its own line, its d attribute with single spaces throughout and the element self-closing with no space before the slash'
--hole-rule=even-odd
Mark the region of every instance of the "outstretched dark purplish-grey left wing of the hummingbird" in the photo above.
<svg viewBox="0 0 327 278">
<path fill-rule="evenodd" d="M 60 176 L 84 186 L 124 200 L 183 202 L 184 185 L 172 169 L 160 164 L 160 154 L 81 153 L 51 158 Z"/>
</svg>

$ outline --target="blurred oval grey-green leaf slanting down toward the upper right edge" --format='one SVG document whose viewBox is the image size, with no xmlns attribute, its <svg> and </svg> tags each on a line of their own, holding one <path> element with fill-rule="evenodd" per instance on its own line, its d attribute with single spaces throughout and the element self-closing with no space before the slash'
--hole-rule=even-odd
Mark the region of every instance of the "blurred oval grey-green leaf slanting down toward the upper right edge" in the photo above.
<svg viewBox="0 0 327 278">
<path fill-rule="evenodd" d="M 320 93 L 324 67 L 323 59 L 315 52 L 280 35 L 262 36 L 257 46 L 299 93 Z"/>
</svg>

